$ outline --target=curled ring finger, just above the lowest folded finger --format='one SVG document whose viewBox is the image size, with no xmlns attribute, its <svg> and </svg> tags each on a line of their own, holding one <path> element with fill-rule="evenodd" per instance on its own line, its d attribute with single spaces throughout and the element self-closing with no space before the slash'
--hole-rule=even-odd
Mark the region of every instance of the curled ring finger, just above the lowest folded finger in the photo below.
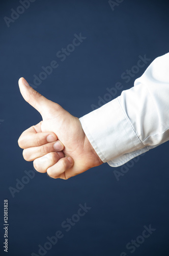
<svg viewBox="0 0 169 256">
<path fill-rule="evenodd" d="M 63 158 L 63 152 L 52 152 L 34 160 L 34 168 L 39 173 L 46 173 L 47 169 Z"/>
</svg>

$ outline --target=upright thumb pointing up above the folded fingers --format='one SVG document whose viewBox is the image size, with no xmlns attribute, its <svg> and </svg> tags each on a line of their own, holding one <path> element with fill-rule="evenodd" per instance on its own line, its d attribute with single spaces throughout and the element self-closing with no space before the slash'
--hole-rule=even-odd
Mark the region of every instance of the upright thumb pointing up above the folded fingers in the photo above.
<svg viewBox="0 0 169 256">
<path fill-rule="evenodd" d="M 20 93 L 24 100 L 33 106 L 41 115 L 45 115 L 49 111 L 52 101 L 46 99 L 40 93 L 30 87 L 29 83 L 21 77 L 18 81 Z"/>
</svg>

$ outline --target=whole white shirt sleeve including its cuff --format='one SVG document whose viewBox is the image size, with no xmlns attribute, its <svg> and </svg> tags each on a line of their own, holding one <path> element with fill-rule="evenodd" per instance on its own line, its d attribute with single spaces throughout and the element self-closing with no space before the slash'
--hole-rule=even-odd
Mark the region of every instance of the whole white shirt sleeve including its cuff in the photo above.
<svg viewBox="0 0 169 256">
<path fill-rule="evenodd" d="M 169 53 L 156 58 L 134 87 L 79 120 L 112 167 L 169 140 Z"/>
</svg>

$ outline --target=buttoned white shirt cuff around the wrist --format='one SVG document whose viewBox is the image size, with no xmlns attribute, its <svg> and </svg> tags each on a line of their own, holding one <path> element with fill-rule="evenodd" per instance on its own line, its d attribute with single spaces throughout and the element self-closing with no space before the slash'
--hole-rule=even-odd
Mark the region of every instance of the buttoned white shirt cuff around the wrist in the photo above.
<svg viewBox="0 0 169 256">
<path fill-rule="evenodd" d="M 149 150 L 134 132 L 118 98 L 79 120 L 100 159 L 112 167 L 123 165 Z"/>
</svg>

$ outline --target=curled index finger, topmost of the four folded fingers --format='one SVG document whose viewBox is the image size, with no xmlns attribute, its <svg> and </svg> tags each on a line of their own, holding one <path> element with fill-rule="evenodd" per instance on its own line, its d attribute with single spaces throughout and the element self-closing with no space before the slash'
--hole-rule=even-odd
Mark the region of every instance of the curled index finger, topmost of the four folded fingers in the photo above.
<svg viewBox="0 0 169 256">
<path fill-rule="evenodd" d="M 31 128 L 34 129 L 33 126 Z M 18 139 L 18 145 L 21 148 L 25 149 L 28 147 L 41 146 L 48 142 L 54 142 L 54 141 L 57 141 L 57 139 L 58 137 L 52 132 L 36 133 L 36 132 L 31 132 L 31 129 L 30 129 L 30 131 L 26 130 L 21 134 L 21 136 Z"/>
</svg>

